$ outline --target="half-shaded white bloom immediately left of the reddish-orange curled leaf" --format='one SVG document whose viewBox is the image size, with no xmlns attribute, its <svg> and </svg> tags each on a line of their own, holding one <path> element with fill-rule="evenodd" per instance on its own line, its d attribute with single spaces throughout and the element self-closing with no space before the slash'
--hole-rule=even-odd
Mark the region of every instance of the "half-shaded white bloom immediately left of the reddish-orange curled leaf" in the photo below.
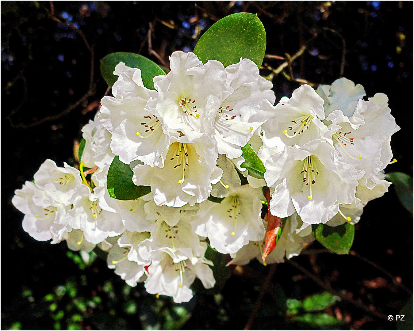
<svg viewBox="0 0 414 331">
<path fill-rule="evenodd" d="M 200 214 L 191 222 L 195 233 L 208 237 L 212 248 L 218 252 L 235 253 L 249 240 L 264 237 L 262 189 L 249 185 L 229 188 L 229 195 L 220 204 L 203 202 Z"/>
</svg>

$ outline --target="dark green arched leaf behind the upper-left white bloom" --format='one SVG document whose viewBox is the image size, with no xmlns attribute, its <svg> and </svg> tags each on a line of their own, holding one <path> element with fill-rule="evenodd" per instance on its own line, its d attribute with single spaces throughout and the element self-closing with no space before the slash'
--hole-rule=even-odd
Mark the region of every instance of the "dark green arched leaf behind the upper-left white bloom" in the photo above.
<svg viewBox="0 0 414 331">
<path fill-rule="evenodd" d="M 159 65 L 142 55 L 124 52 L 111 53 L 101 60 L 101 75 L 109 86 L 112 86 L 118 79 L 118 76 L 115 76 L 113 71 L 119 62 L 124 62 L 125 65 L 131 68 L 139 68 L 141 70 L 142 83 L 147 89 L 154 89 L 154 82 L 152 80 L 154 76 L 166 74 Z"/>
</svg>

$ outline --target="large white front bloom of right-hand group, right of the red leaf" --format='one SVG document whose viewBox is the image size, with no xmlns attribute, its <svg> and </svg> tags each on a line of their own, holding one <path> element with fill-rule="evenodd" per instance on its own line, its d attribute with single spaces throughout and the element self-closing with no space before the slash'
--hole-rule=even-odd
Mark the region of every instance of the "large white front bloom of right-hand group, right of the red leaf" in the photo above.
<svg viewBox="0 0 414 331">
<path fill-rule="evenodd" d="M 272 148 L 265 147 L 263 149 Z M 265 180 L 275 190 L 270 200 L 274 216 L 295 211 L 308 224 L 326 223 L 339 204 L 354 200 L 359 173 L 336 162 L 332 146 L 319 139 L 299 147 L 286 146 L 265 161 Z"/>
</svg>

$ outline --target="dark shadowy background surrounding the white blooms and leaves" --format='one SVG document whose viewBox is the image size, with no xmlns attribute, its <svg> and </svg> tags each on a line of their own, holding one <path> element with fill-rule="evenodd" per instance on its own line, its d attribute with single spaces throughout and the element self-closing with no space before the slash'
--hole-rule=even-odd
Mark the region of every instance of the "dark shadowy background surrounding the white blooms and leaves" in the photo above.
<svg viewBox="0 0 414 331">
<path fill-rule="evenodd" d="M 107 89 L 99 59 L 133 52 L 163 65 L 148 50 L 150 22 L 152 48 L 168 66 L 168 55 L 193 50 L 215 20 L 234 12 L 257 13 L 267 33 L 266 54 L 294 55 L 306 45 L 292 71 L 294 79 L 314 84 L 331 84 L 340 77 L 344 40 L 344 77 L 362 84 L 367 96 L 387 94 L 401 127 L 391 142 L 398 162 L 386 172 L 412 176 L 412 2 L 200 1 L 195 7 L 190 1 L 80 1 L 54 6 L 58 20 L 81 30 L 94 49 L 91 84 L 91 52 L 81 34 L 51 19 L 49 2 L 1 2 L 2 329 L 243 329 L 252 314 L 270 266 L 252 261 L 241 272 L 233 271 L 221 293 L 199 293 L 185 305 L 173 305 L 168 297 L 147 294 L 142 284 L 125 285 L 94 254 L 85 262 L 79 253 L 67 252 L 65 242 L 34 240 L 22 230 L 23 215 L 11 204 L 14 190 L 32 180 L 46 158 L 58 166 L 64 161 L 76 165 L 73 150 L 80 129 L 94 118 Z M 273 68 L 282 62 L 264 60 Z M 263 76 L 271 73 L 267 65 Z M 299 86 L 283 74 L 272 82 L 277 101 Z M 55 118 L 44 120 L 47 117 Z M 355 227 L 352 250 L 363 258 L 329 254 L 315 242 L 294 261 L 362 305 L 395 315 L 412 291 L 412 224 L 412 214 L 391 186 L 390 192 L 368 203 Z M 393 283 L 389 273 L 406 288 Z M 263 297 L 253 329 L 312 327 L 285 314 L 286 298 L 302 300 L 322 291 L 311 278 L 291 264 L 279 264 L 270 289 L 274 295 Z M 336 328 L 396 329 L 395 322 L 344 301 L 324 311 L 344 321 Z"/>
</svg>

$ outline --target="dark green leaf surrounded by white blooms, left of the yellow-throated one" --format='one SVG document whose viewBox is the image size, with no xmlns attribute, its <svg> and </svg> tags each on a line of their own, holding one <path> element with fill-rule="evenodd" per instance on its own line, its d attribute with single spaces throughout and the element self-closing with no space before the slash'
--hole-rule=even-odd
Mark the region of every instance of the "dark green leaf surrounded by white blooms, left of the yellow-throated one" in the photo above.
<svg viewBox="0 0 414 331">
<path fill-rule="evenodd" d="M 149 186 L 137 186 L 132 182 L 132 172 L 130 166 L 119 161 L 115 156 L 108 170 L 106 187 L 109 195 L 118 200 L 133 200 L 151 192 Z"/>
</svg>

